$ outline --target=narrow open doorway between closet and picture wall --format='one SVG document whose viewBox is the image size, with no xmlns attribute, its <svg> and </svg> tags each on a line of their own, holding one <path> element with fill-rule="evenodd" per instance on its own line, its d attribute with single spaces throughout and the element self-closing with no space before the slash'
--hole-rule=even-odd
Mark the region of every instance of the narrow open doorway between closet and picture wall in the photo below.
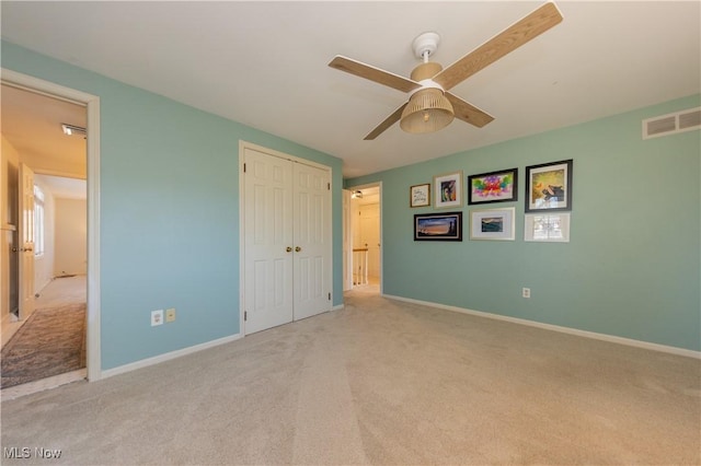
<svg viewBox="0 0 701 466">
<path fill-rule="evenodd" d="M 350 191 L 350 221 L 346 235 L 350 238 L 353 289 L 380 293 L 382 290 L 382 202 L 381 184 L 348 188 Z"/>
</svg>

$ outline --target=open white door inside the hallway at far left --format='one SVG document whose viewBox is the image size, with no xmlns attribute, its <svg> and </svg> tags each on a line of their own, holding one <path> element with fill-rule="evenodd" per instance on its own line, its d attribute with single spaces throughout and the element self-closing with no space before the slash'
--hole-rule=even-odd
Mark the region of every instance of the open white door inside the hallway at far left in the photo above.
<svg viewBox="0 0 701 466">
<path fill-rule="evenodd" d="M 20 164 L 20 319 L 27 318 L 34 311 L 34 172 Z"/>
</svg>

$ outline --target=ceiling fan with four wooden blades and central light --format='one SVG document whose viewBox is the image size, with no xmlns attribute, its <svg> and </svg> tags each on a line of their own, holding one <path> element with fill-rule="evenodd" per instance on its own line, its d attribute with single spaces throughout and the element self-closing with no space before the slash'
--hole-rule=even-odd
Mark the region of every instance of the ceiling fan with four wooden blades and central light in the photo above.
<svg viewBox="0 0 701 466">
<path fill-rule="evenodd" d="M 416 57 L 423 62 L 414 68 L 411 79 L 341 55 L 334 57 L 329 66 L 409 93 L 409 101 L 370 131 L 365 140 L 377 138 L 397 121 L 400 121 L 404 131 L 411 133 L 437 131 L 448 126 L 453 118 L 482 128 L 494 117 L 448 91 L 561 21 L 562 14 L 558 7 L 551 2 L 545 3 L 446 69 L 437 62 L 428 61 L 428 57 L 436 51 L 440 37 L 433 32 L 424 33 L 412 44 Z"/>
</svg>

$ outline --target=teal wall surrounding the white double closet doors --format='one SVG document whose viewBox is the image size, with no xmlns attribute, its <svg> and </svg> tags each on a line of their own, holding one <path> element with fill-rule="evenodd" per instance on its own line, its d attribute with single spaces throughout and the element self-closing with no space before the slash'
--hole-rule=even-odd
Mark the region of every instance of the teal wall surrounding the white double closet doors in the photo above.
<svg viewBox="0 0 701 466">
<path fill-rule="evenodd" d="M 239 140 L 333 170 L 342 161 L 2 42 L 2 68 L 100 97 L 102 370 L 239 333 Z M 333 304 L 343 303 L 342 244 Z M 175 323 L 150 327 L 150 311 Z"/>
</svg>

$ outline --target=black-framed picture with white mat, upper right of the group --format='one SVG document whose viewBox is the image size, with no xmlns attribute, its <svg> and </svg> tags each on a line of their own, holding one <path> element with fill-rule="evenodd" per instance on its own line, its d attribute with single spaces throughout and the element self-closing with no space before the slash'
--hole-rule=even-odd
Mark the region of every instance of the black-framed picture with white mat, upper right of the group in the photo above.
<svg viewBox="0 0 701 466">
<path fill-rule="evenodd" d="M 526 167 L 526 212 L 572 210 L 572 159 Z"/>
</svg>

